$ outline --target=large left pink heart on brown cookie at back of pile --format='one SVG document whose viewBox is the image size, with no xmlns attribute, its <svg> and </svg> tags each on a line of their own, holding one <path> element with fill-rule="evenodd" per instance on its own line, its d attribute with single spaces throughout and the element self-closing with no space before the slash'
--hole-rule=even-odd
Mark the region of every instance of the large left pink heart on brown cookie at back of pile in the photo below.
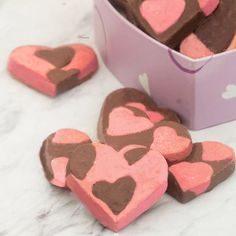
<svg viewBox="0 0 236 236">
<path fill-rule="evenodd" d="M 125 107 L 117 107 L 109 115 L 107 134 L 111 136 L 139 133 L 153 127 L 153 123 L 145 117 L 135 116 L 133 111 Z"/>
</svg>

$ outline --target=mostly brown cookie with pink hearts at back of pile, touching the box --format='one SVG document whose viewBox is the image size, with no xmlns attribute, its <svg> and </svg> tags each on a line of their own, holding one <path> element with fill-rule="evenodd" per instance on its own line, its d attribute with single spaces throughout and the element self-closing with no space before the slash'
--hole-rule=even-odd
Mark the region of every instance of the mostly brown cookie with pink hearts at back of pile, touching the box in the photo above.
<svg viewBox="0 0 236 236">
<path fill-rule="evenodd" d="M 161 152 L 169 162 L 181 161 L 191 153 L 192 141 L 188 130 L 177 122 L 175 112 L 158 108 L 146 94 L 120 89 L 104 102 L 98 138 L 117 151 L 133 146 L 136 152 L 138 145 Z"/>
</svg>

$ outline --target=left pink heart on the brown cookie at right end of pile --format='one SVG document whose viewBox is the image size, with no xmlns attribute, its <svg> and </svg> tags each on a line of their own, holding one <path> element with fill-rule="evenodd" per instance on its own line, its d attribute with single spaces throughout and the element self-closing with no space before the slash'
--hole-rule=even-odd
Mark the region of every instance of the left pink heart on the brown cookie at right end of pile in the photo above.
<svg viewBox="0 0 236 236">
<path fill-rule="evenodd" d="M 208 189 L 213 175 L 211 166 L 203 162 L 181 162 L 172 165 L 169 171 L 175 176 L 184 192 L 191 191 L 196 195 L 200 195 Z"/>
</svg>

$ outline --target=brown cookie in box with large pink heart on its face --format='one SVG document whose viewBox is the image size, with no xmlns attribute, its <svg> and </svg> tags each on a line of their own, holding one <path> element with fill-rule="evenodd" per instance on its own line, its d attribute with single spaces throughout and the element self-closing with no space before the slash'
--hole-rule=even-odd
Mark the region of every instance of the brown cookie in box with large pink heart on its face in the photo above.
<svg viewBox="0 0 236 236">
<path fill-rule="evenodd" d="M 133 0 L 132 9 L 145 32 L 175 48 L 218 4 L 219 0 Z"/>
</svg>

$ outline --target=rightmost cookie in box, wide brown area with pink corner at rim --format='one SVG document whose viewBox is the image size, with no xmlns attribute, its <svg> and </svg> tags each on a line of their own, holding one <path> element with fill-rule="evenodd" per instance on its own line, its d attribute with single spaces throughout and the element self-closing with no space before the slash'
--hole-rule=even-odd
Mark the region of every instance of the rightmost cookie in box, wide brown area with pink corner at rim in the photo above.
<svg viewBox="0 0 236 236">
<path fill-rule="evenodd" d="M 180 52 L 191 58 L 202 58 L 236 48 L 236 2 L 221 0 L 216 11 L 189 35 Z"/>
</svg>

